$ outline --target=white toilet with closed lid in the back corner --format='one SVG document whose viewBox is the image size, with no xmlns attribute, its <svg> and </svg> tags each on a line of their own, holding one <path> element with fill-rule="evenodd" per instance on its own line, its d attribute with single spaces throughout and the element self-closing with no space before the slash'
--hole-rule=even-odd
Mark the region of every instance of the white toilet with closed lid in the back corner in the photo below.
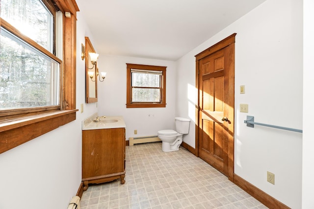
<svg viewBox="0 0 314 209">
<path fill-rule="evenodd" d="M 172 152 L 178 151 L 182 143 L 183 134 L 188 134 L 190 127 L 190 119 L 184 117 L 175 117 L 176 130 L 161 130 L 157 136 L 162 141 L 162 151 Z"/>
</svg>

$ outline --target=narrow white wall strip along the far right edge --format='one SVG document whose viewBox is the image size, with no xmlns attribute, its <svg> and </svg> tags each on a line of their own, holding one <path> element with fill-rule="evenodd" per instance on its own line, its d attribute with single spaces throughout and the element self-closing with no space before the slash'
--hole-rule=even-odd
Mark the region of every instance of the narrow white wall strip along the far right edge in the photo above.
<svg viewBox="0 0 314 209">
<path fill-rule="evenodd" d="M 304 8 L 304 42 L 303 42 L 303 171 L 302 171 L 302 208 L 314 206 L 314 140 L 313 140 L 313 102 L 314 102 L 314 1 L 303 0 Z"/>
</svg>

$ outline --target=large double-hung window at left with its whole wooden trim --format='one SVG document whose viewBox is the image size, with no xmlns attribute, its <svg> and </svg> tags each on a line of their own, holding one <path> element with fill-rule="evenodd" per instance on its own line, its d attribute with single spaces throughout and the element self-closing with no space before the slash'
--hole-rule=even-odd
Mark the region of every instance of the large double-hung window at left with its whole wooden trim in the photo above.
<svg viewBox="0 0 314 209">
<path fill-rule="evenodd" d="M 77 11 L 75 0 L 1 0 L 0 153 L 76 119 Z"/>
</svg>

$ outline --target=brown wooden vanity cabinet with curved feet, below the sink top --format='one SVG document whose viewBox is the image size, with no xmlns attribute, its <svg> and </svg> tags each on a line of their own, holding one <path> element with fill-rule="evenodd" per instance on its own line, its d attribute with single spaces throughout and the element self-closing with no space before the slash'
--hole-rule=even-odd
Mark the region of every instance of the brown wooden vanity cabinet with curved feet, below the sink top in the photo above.
<svg viewBox="0 0 314 209">
<path fill-rule="evenodd" d="M 99 184 L 120 179 L 125 183 L 125 128 L 82 131 L 82 182 Z"/>
</svg>

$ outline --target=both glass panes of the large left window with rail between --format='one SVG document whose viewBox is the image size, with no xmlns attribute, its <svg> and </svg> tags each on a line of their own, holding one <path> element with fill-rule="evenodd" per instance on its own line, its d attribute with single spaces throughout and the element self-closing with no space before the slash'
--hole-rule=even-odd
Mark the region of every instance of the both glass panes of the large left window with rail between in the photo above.
<svg viewBox="0 0 314 209">
<path fill-rule="evenodd" d="M 61 61 L 53 54 L 52 25 L 55 25 L 56 11 L 49 10 L 47 5 L 41 0 L 1 0 L 2 112 L 18 108 L 61 107 Z"/>
</svg>

